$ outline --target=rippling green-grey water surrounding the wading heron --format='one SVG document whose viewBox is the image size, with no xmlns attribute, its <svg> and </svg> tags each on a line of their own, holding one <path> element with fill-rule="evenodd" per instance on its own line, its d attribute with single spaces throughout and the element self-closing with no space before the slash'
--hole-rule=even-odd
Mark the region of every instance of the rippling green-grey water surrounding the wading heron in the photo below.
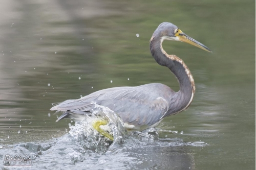
<svg viewBox="0 0 256 170">
<path fill-rule="evenodd" d="M 0 160 L 27 155 L 33 169 L 255 169 L 254 7 L 207 0 L 3 2 Z M 156 129 L 118 134 L 122 140 L 114 143 L 73 120 L 55 123 L 60 113 L 49 111 L 52 103 L 100 89 L 159 82 L 178 91 L 149 51 L 163 21 L 214 52 L 163 43 L 194 76 L 187 111 Z"/>
</svg>

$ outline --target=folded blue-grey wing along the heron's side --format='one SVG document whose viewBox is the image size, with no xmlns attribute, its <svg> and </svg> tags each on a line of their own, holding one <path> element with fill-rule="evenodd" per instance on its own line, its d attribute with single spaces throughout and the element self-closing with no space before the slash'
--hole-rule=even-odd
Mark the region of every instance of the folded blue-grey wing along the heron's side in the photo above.
<svg viewBox="0 0 256 170">
<path fill-rule="evenodd" d="M 77 100 L 67 100 L 50 110 L 79 110 L 88 112 L 94 103 L 117 113 L 124 123 L 134 126 L 151 126 L 168 111 L 170 95 L 174 91 L 160 83 L 136 87 L 115 87 L 91 93 Z"/>
</svg>

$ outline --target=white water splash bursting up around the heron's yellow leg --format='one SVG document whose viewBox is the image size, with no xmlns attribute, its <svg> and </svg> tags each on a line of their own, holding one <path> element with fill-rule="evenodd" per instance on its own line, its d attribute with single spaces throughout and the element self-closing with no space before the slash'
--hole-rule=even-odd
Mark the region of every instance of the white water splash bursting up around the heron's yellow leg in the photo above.
<svg viewBox="0 0 256 170">
<path fill-rule="evenodd" d="M 98 119 L 105 119 L 108 125 L 100 126 L 100 128 L 108 131 L 113 135 L 114 140 L 100 135 L 92 126 L 92 123 Z M 84 149 L 96 153 L 105 153 L 118 147 L 124 141 L 125 129 L 121 118 L 107 107 L 94 104 L 92 114 L 85 115 L 81 122 L 76 122 L 74 126 L 71 124 L 70 135 Z"/>
</svg>

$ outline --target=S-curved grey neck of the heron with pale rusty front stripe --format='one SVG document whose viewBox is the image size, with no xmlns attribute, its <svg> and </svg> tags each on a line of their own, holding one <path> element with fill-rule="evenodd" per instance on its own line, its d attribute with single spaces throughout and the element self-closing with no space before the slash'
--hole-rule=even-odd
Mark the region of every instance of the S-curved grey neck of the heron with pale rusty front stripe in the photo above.
<svg viewBox="0 0 256 170">
<path fill-rule="evenodd" d="M 152 37 L 150 42 L 150 51 L 158 64 L 166 66 L 173 72 L 180 84 L 180 90 L 171 96 L 170 112 L 167 114 L 178 113 L 188 108 L 194 98 L 195 83 L 193 76 L 186 64 L 175 55 L 168 55 L 162 47 L 164 37 Z M 167 116 L 165 115 L 165 116 Z"/>
</svg>

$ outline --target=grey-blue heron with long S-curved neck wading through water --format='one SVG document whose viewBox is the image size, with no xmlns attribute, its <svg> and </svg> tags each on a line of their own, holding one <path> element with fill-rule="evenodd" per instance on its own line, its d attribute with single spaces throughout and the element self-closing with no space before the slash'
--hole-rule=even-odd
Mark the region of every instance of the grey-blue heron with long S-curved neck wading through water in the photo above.
<svg viewBox="0 0 256 170">
<path fill-rule="evenodd" d="M 211 52 L 202 43 L 184 34 L 173 23 L 163 22 L 150 40 L 150 51 L 156 62 L 173 72 L 180 84 L 178 92 L 160 83 L 145 84 L 137 87 L 114 87 L 93 92 L 83 98 L 67 100 L 50 110 L 64 111 L 62 118 L 79 119 L 90 115 L 93 103 L 113 110 L 121 117 L 124 128 L 129 131 L 142 131 L 157 126 L 169 115 L 177 114 L 189 107 L 195 94 L 195 82 L 186 64 L 175 55 L 168 55 L 162 47 L 164 40 L 183 41 Z M 93 127 L 102 135 L 113 140 L 113 136 L 100 128 L 108 122 L 96 120 Z"/>
</svg>

